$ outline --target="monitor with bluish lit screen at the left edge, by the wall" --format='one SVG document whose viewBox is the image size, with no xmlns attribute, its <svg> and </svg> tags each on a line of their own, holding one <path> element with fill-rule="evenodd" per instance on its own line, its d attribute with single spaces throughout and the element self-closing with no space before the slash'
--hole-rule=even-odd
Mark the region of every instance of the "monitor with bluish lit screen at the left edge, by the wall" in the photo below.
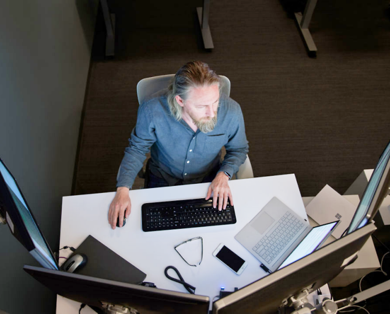
<svg viewBox="0 0 390 314">
<path fill-rule="evenodd" d="M 16 239 L 46 268 L 58 270 L 53 252 L 30 211 L 15 178 L 0 158 L 0 216 Z"/>
</svg>

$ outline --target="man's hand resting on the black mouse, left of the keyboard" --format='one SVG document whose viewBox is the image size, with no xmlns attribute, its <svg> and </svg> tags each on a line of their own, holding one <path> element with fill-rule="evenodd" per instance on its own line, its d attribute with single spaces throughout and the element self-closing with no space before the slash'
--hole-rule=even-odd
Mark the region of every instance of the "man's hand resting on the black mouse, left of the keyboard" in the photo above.
<svg viewBox="0 0 390 314">
<path fill-rule="evenodd" d="M 120 186 L 117 188 L 117 193 L 111 202 L 110 210 L 108 211 L 108 223 L 112 229 L 115 229 L 117 225 L 117 219 L 119 216 L 119 226 L 123 225 L 124 210 L 126 209 L 126 219 L 131 212 L 131 201 L 129 197 L 129 189 L 126 186 Z"/>
</svg>

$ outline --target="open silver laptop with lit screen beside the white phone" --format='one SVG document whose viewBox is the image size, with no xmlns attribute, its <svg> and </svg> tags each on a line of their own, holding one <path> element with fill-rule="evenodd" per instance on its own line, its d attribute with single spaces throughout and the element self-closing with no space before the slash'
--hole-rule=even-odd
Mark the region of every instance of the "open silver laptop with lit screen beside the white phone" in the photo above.
<svg viewBox="0 0 390 314">
<path fill-rule="evenodd" d="M 312 228 L 273 197 L 235 238 L 272 273 L 321 247 L 338 223 Z"/>
</svg>

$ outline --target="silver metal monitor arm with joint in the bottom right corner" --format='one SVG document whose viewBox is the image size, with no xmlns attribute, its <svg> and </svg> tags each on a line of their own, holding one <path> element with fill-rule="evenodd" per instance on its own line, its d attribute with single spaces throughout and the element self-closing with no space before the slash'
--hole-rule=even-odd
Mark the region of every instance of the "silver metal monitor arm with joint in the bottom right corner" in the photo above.
<svg viewBox="0 0 390 314">
<path fill-rule="evenodd" d="M 301 293 L 295 294 L 294 296 L 291 296 L 287 300 L 285 300 L 282 305 L 294 307 L 295 310 L 291 312 L 291 314 L 335 314 L 339 310 L 352 307 L 356 303 L 367 300 L 389 289 L 390 280 L 387 280 L 381 284 L 378 284 L 362 292 L 356 293 L 353 296 L 342 300 L 333 301 L 328 298 L 325 298 L 323 302 L 316 307 L 311 305 L 307 300 L 307 296 L 309 294 L 310 289 L 303 289 Z"/>
</svg>

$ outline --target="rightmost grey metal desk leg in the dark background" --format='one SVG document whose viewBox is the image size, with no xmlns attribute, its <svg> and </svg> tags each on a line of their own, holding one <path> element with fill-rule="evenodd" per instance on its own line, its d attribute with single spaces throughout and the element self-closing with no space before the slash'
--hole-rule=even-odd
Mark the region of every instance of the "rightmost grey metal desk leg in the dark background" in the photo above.
<svg viewBox="0 0 390 314">
<path fill-rule="evenodd" d="M 308 0 L 303 16 L 301 12 L 294 13 L 295 20 L 298 24 L 298 28 L 301 32 L 301 36 L 305 43 L 309 57 L 316 57 L 317 55 L 316 44 L 314 44 L 312 35 L 310 34 L 308 29 L 310 20 L 312 19 L 314 9 L 316 8 L 316 4 L 317 4 L 317 0 Z"/>
</svg>

